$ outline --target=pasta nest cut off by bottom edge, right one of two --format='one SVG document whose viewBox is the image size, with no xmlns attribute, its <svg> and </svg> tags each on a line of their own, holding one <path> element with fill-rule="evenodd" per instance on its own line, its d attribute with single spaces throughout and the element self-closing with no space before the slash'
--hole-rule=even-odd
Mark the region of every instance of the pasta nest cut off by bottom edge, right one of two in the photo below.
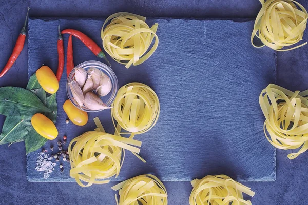
<svg viewBox="0 0 308 205">
<path fill-rule="evenodd" d="M 244 200 L 243 193 L 254 196 L 255 192 L 250 188 L 234 181 L 226 175 L 208 175 L 203 179 L 191 181 L 192 187 L 189 197 L 190 205 L 204 204 L 241 204 L 251 205 L 249 200 Z"/>
</svg>

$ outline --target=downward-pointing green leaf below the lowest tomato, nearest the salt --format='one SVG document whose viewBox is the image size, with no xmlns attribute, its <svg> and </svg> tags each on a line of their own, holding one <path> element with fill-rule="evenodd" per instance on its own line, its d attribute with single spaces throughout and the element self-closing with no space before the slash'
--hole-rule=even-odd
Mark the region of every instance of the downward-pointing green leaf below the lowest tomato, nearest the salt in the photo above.
<svg viewBox="0 0 308 205">
<path fill-rule="evenodd" d="M 43 147 L 48 139 L 38 134 L 31 126 L 29 133 L 25 136 L 26 154 L 34 152 Z"/>
</svg>

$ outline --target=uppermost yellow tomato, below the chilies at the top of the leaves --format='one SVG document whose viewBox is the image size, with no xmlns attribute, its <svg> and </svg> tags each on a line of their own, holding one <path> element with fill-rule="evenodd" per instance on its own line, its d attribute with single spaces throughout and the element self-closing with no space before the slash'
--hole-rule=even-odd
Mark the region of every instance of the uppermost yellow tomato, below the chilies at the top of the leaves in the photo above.
<svg viewBox="0 0 308 205">
<path fill-rule="evenodd" d="M 50 94 L 56 93 L 56 91 L 59 89 L 59 82 L 48 66 L 42 66 L 40 69 L 38 69 L 36 71 L 36 78 L 42 88 Z"/>
</svg>

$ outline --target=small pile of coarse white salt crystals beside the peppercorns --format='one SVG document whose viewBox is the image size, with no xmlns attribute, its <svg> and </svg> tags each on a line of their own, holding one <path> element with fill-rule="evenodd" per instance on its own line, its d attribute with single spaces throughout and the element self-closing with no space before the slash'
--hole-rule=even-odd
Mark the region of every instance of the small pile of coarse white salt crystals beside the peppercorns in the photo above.
<svg viewBox="0 0 308 205">
<path fill-rule="evenodd" d="M 45 152 L 40 152 L 40 156 L 37 157 L 35 170 L 44 172 L 44 179 L 48 179 L 49 174 L 54 170 L 55 163 L 52 163 L 51 159 L 53 158 L 49 157 L 49 154 Z"/>
</svg>

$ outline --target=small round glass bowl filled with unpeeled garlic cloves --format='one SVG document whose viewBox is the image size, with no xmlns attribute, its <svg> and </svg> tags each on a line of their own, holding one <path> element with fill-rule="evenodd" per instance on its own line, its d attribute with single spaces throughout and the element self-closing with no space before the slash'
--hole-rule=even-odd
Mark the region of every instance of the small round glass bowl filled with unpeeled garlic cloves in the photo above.
<svg viewBox="0 0 308 205">
<path fill-rule="evenodd" d="M 117 76 L 110 67 L 99 61 L 79 64 L 67 78 L 68 98 L 74 106 L 86 112 L 110 108 L 118 89 Z"/>
</svg>

